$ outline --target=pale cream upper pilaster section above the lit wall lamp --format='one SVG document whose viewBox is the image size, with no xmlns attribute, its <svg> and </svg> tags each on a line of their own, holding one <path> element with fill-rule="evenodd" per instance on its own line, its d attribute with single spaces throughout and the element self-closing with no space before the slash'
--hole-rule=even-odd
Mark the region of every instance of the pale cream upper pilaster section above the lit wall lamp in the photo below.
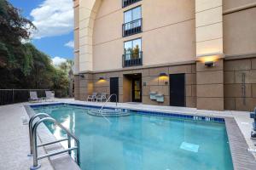
<svg viewBox="0 0 256 170">
<path fill-rule="evenodd" d="M 195 0 L 196 56 L 223 54 L 222 0 Z"/>
</svg>

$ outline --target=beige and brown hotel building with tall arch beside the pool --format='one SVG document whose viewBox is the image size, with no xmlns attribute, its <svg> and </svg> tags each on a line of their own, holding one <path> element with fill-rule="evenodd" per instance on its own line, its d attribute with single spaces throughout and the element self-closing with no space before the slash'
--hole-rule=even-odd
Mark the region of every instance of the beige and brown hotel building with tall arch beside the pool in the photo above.
<svg viewBox="0 0 256 170">
<path fill-rule="evenodd" d="M 75 99 L 256 106 L 256 0 L 74 0 Z"/>
</svg>

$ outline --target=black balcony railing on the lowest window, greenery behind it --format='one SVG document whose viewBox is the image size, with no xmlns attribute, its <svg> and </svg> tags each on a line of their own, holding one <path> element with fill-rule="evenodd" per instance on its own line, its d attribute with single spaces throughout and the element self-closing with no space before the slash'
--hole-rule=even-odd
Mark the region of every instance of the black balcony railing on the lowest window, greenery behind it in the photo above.
<svg viewBox="0 0 256 170">
<path fill-rule="evenodd" d="M 143 65 L 143 52 L 123 54 L 123 67 Z"/>
</svg>

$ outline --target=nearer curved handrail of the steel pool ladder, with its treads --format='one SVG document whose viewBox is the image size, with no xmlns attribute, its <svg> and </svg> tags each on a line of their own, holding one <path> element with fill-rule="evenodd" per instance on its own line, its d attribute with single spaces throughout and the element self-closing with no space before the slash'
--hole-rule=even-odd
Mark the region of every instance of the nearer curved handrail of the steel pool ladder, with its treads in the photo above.
<svg viewBox="0 0 256 170">
<path fill-rule="evenodd" d="M 55 151 L 55 152 L 51 152 L 48 154 L 45 154 L 43 156 L 38 156 L 38 147 L 40 146 L 44 146 L 44 145 L 48 145 L 48 144 L 55 144 L 59 141 L 55 141 L 55 142 L 50 142 L 50 143 L 46 143 L 46 144 L 37 144 L 37 128 L 38 125 L 41 124 L 42 122 L 53 122 L 55 123 L 55 125 L 57 125 L 58 127 L 61 127 L 62 130 L 64 130 L 67 133 L 67 140 L 68 140 L 68 148 L 66 150 L 61 150 L 61 151 Z M 71 147 L 71 138 L 73 138 L 76 142 L 76 146 Z M 63 140 L 62 140 L 63 141 Z M 48 116 L 48 117 L 44 117 L 40 120 L 38 120 L 38 122 L 35 123 L 35 125 L 32 127 L 32 153 L 33 153 L 33 166 L 30 168 L 31 170 L 33 169 L 38 169 L 40 167 L 40 165 L 38 165 L 38 160 L 43 159 L 45 157 L 49 157 L 49 156 L 55 156 L 55 155 L 59 155 L 65 152 L 68 152 L 69 154 L 71 154 L 72 150 L 77 150 L 76 152 L 76 162 L 78 165 L 80 165 L 80 143 L 79 143 L 79 139 L 73 135 L 73 133 L 71 133 L 66 127 L 63 127 L 61 125 L 61 123 L 57 122 L 54 118 Z"/>
</svg>

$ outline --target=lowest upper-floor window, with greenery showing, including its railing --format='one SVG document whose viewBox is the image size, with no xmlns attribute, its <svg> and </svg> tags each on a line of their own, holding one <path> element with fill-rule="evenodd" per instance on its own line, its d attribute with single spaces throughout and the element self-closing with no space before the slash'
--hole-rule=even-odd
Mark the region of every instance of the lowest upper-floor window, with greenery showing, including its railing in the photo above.
<svg viewBox="0 0 256 170">
<path fill-rule="evenodd" d="M 142 39 L 124 42 L 123 67 L 143 65 Z"/>
</svg>

